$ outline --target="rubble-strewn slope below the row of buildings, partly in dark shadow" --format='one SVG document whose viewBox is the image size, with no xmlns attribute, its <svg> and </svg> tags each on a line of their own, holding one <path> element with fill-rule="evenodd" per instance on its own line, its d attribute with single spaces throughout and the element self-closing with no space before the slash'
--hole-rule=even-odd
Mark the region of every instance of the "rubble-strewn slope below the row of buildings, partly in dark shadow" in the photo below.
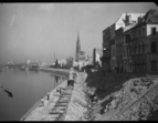
<svg viewBox="0 0 158 123">
<path fill-rule="evenodd" d="M 158 120 L 158 76 L 89 72 L 92 121 Z"/>
</svg>

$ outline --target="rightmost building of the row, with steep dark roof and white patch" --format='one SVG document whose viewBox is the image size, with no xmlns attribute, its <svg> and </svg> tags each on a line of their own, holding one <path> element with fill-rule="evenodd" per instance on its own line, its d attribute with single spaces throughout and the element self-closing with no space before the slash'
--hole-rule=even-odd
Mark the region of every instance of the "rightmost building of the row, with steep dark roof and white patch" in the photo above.
<svg viewBox="0 0 158 123">
<path fill-rule="evenodd" d="M 130 31 L 133 72 L 158 72 L 158 10 L 149 10 Z"/>
</svg>

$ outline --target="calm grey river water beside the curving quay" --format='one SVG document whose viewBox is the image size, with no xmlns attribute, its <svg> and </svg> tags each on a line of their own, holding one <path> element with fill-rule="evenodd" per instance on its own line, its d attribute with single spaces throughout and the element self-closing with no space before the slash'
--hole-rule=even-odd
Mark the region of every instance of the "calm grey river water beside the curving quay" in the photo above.
<svg viewBox="0 0 158 123">
<path fill-rule="evenodd" d="M 19 121 L 35 102 L 63 81 L 63 78 L 42 71 L 3 70 L 0 86 L 8 89 L 13 96 L 9 98 L 0 88 L 0 121 Z"/>
</svg>

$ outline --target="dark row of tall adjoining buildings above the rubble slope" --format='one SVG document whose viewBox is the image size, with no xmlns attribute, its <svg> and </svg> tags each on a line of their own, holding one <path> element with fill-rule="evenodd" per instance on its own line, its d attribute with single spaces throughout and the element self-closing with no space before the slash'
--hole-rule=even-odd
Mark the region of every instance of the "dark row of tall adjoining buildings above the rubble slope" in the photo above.
<svg viewBox="0 0 158 123">
<path fill-rule="evenodd" d="M 158 72 L 158 10 L 123 13 L 103 30 L 102 68 L 105 71 Z"/>
</svg>

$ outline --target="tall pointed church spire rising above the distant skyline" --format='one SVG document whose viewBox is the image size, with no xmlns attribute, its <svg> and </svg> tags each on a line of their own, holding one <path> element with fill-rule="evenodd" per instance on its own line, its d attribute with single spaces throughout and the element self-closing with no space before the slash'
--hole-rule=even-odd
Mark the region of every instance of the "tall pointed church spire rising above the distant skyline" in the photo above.
<svg viewBox="0 0 158 123">
<path fill-rule="evenodd" d="M 75 54 L 75 61 L 80 61 L 80 54 L 81 54 L 81 43 L 80 43 L 80 35 L 77 32 L 77 42 L 76 42 L 76 54 Z"/>
</svg>

